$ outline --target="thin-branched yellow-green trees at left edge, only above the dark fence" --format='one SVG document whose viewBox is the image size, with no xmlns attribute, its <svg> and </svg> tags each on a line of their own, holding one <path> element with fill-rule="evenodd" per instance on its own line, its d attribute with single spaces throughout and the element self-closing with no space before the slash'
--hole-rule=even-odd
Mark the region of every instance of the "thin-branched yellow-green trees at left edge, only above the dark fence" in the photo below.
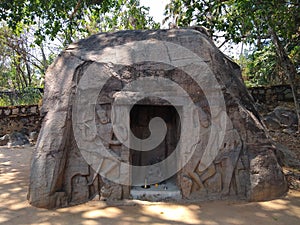
<svg viewBox="0 0 300 225">
<path fill-rule="evenodd" d="M 30 41 L 30 33 L 16 35 L 10 28 L 0 27 L 0 74 L 1 88 L 22 91 L 36 85 L 47 63 L 39 59 L 37 49 Z"/>
</svg>

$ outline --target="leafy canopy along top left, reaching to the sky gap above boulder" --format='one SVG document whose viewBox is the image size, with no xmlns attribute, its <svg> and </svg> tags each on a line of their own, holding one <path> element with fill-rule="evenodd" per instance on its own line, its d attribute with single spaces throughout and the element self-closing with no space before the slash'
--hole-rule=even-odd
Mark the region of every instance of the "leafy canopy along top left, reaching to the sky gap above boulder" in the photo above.
<svg viewBox="0 0 300 225">
<path fill-rule="evenodd" d="M 99 31 L 157 28 L 148 10 L 138 0 L 19 0 L 1 1 L 0 18 L 16 32 L 36 26 L 38 45 L 60 36 L 66 46 Z"/>
</svg>

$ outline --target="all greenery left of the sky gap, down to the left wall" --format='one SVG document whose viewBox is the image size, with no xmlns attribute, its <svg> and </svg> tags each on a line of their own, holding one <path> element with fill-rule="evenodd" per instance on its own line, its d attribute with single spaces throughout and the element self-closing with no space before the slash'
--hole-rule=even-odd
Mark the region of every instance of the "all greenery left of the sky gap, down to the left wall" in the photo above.
<svg viewBox="0 0 300 225">
<path fill-rule="evenodd" d="M 0 1 L 0 104 L 34 104 L 44 73 L 71 42 L 94 33 L 157 29 L 139 0 Z M 55 46 L 55 47 L 54 47 Z"/>
</svg>

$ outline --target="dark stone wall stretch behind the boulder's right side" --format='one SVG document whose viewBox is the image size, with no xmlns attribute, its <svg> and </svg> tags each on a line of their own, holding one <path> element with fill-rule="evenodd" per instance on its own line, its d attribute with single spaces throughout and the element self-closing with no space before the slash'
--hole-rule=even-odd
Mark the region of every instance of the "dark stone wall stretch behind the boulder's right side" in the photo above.
<svg viewBox="0 0 300 225">
<path fill-rule="evenodd" d="M 290 85 L 276 85 L 271 87 L 248 88 L 248 91 L 256 102 L 273 103 L 278 101 L 293 102 Z M 298 101 L 300 101 L 300 86 L 296 87 Z"/>
</svg>

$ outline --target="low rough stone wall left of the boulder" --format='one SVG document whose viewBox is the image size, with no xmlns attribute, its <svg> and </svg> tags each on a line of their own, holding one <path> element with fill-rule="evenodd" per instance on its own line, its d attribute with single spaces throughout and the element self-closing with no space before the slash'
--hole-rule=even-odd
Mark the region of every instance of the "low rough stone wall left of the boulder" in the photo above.
<svg viewBox="0 0 300 225">
<path fill-rule="evenodd" d="M 38 132 L 41 120 L 38 105 L 0 107 L 0 136 L 14 131 Z"/>
</svg>

